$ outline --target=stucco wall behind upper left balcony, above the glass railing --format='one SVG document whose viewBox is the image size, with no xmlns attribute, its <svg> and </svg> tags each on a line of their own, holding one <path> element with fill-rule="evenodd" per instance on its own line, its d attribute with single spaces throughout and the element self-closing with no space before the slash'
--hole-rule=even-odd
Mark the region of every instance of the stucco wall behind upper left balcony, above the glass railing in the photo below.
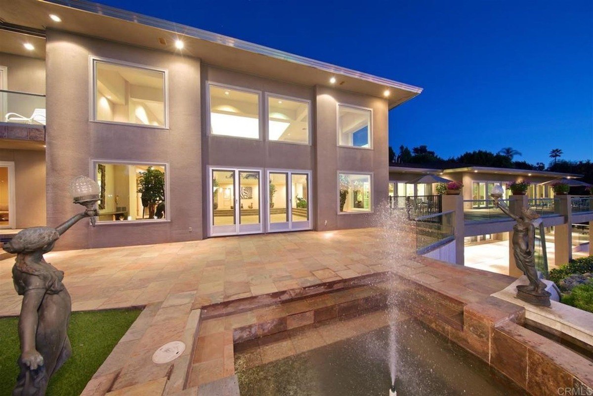
<svg viewBox="0 0 593 396">
<path fill-rule="evenodd" d="M 0 66 L 8 68 L 5 90 L 45 94 L 45 61 L 0 52 Z"/>
</svg>

